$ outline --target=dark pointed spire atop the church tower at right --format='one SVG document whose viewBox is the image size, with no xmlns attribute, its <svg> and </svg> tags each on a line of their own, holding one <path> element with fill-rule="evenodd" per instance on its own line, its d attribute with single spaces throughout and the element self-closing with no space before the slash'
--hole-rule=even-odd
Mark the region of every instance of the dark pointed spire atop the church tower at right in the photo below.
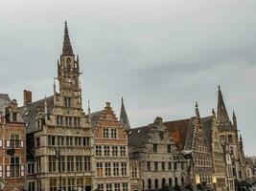
<svg viewBox="0 0 256 191">
<path fill-rule="evenodd" d="M 225 108 L 225 103 L 221 94 L 221 87 L 218 87 L 218 108 L 217 108 L 217 121 L 221 124 L 229 123 L 229 117 Z"/>
</svg>

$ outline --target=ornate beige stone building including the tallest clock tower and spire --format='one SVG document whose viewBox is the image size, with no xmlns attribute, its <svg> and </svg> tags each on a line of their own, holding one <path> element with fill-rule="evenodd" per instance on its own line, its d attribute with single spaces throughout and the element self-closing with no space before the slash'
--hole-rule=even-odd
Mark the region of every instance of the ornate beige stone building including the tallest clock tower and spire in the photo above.
<svg viewBox="0 0 256 191">
<path fill-rule="evenodd" d="M 21 108 L 37 190 L 94 189 L 93 131 L 81 106 L 80 74 L 79 58 L 75 58 L 65 23 L 58 92 L 54 84 L 53 96 L 24 100 L 27 105 Z"/>
</svg>

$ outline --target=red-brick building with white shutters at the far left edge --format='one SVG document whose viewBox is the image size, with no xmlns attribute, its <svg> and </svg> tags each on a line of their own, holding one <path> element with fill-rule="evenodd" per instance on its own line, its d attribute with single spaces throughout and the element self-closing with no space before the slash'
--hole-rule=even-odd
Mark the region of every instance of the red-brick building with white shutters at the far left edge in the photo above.
<svg viewBox="0 0 256 191">
<path fill-rule="evenodd" d="M 3 98 L 3 97 L 2 97 Z M 6 96 L 0 100 L 0 189 L 23 190 L 26 187 L 26 128 L 17 102 Z"/>
</svg>

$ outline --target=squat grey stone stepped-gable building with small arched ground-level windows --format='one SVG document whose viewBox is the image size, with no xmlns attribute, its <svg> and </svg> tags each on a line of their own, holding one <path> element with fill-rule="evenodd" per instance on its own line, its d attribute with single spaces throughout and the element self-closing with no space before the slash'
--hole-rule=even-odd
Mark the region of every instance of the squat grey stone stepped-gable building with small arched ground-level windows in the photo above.
<svg viewBox="0 0 256 191">
<path fill-rule="evenodd" d="M 132 190 L 187 184 L 187 160 L 179 155 L 161 117 L 127 132 Z"/>
</svg>

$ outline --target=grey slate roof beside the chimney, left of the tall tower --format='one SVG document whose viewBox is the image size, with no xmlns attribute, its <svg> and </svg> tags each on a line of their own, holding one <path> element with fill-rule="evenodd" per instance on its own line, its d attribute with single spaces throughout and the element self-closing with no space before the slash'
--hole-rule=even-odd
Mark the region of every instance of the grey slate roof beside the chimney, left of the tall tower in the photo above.
<svg viewBox="0 0 256 191">
<path fill-rule="evenodd" d="M 36 131 L 35 128 L 35 114 L 37 109 L 39 108 L 42 112 L 44 112 L 44 101 L 47 101 L 47 111 L 50 114 L 54 107 L 54 96 L 49 96 L 38 101 L 32 102 L 27 106 L 20 107 L 21 117 L 26 122 L 26 132 L 27 134 L 34 133 Z"/>
</svg>

